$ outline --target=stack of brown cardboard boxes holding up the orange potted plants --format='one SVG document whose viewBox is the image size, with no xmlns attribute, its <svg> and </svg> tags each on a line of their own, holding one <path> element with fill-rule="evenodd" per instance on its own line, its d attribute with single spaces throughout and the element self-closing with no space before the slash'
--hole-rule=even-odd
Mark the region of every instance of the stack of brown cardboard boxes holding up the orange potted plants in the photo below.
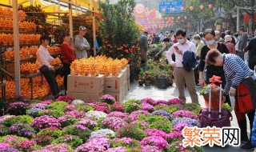
<svg viewBox="0 0 256 152">
<path fill-rule="evenodd" d="M 122 102 L 130 88 L 130 66 L 116 77 L 69 75 L 67 88 L 67 96 L 82 101 L 98 100 L 103 94 L 110 94 L 117 102 Z"/>
</svg>

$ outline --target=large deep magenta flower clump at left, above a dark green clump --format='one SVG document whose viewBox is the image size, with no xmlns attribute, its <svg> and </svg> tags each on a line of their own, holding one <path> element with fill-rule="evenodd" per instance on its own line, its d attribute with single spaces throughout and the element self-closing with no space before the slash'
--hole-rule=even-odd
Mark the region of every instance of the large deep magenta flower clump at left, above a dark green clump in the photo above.
<svg viewBox="0 0 256 152">
<path fill-rule="evenodd" d="M 58 122 L 58 119 L 48 115 L 35 118 L 31 126 L 33 126 L 36 130 L 42 130 L 50 126 L 61 128 L 61 124 Z"/>
</svg>

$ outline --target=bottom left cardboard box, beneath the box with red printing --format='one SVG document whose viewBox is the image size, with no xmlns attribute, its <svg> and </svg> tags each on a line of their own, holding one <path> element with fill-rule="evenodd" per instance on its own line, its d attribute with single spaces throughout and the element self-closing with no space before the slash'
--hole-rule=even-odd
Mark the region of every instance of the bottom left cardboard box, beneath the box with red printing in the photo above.
<svg viewBox="0 0 256 152">
<path fill-rule="evenodd" d="M 72 92 L 66 92 L 66 96 L 72 97 L 75 99 L 80 99 L 84 102 L 90 101 L 90 100 L 95 100 L 98 101 L 99 98 L 104 95 L 103 93 L 100 94 L 87 94 L 87 93 L 72 93 Z"/>
</svg>

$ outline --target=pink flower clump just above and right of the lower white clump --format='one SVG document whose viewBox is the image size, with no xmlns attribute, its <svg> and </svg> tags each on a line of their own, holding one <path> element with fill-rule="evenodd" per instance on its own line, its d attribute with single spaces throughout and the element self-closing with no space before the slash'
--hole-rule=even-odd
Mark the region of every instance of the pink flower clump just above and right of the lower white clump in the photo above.
<svg viewBox="0 0 256 152">
<path fill-rule="evenodd" d="M 126 126 L 127 122 L 125 122 L 122 118 L 116 118 L 116 117 L 107 117 L 102 122 L 102 124 L 111 130 L 117 131 L 120 130 L 122 126 Z"/>
</svg>

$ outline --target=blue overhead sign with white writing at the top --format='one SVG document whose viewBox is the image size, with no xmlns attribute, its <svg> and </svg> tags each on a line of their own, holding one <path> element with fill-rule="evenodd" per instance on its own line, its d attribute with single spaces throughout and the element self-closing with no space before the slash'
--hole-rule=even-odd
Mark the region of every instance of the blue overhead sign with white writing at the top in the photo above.
<svg viewBox="0 0 256 152">
<path fill-rule="evenodd" d="M 160 13 L 181 13 L 182 6 L 184 2 L 179 1 L 170 1 L 170 2 L 159 2 L 159 12 Z"/>
</svg>

